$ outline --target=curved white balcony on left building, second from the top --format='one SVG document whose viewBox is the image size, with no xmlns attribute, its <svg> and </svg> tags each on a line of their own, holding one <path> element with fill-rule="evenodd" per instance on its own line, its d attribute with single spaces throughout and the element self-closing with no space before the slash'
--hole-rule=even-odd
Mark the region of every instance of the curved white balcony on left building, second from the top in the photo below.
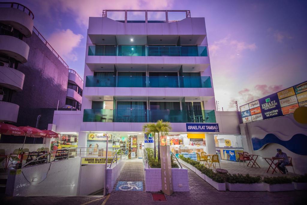
<svg viewBox="0 0 307 205">
<path fill-rule="evenodd" d="M 12 57 L 21 63 L 28 61 L 29 45 L 16 37 L 0 35 L 0 54 Z"/>
</svg>

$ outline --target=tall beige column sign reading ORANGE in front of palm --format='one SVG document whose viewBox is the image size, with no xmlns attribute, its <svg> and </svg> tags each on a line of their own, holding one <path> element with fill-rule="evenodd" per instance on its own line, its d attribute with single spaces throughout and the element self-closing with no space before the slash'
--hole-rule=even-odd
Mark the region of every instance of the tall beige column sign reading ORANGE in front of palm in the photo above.
<svg viewBox="0 0 307 205">
<path fill-rule="evenodd" d="M 166 195 L 173 194 L 173 175 L 169 146 L 160 146 L 162 191 Z"/>
</svg>

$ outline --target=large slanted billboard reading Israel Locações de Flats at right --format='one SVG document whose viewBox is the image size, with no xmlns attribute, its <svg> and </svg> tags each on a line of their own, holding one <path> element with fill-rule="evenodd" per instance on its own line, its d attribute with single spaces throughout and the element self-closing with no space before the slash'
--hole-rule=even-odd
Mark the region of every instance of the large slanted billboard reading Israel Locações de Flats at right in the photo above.
<svg viewBox="0 0 307 205">
<path fill-rule="evenodd" d="M 299 107 L 307 107 L 307 81 L 242 105 L 240 111 L 243 123 L 248 123 L 289 115 Z"/>
</svg>

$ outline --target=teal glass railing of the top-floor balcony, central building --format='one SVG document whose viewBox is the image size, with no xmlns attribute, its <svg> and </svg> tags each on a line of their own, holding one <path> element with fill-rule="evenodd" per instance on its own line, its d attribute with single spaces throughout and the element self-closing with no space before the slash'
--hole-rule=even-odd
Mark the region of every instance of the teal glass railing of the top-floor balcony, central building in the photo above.
<svg viewBox="0 0 307 205">
<path fill-rule="evenodd" d="M 207 46 L 90 45 L 89 56 L 208 56 Z"/>
</svg>

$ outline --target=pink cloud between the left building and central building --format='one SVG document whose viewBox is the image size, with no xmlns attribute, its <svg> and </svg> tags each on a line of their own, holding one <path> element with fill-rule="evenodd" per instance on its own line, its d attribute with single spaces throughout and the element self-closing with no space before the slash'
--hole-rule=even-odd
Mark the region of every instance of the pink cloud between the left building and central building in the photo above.
<svg viewBox="0 0 307 205">
<path fill-rule="evenodd" d="M 74 34 L 70 29 L 58 30 L 50 35 L 48 42 L 60 56 L 77 61 L 78 57 L 73 49 L 79 46 L 82 38 L 81 34 Z"/>
</svg>

